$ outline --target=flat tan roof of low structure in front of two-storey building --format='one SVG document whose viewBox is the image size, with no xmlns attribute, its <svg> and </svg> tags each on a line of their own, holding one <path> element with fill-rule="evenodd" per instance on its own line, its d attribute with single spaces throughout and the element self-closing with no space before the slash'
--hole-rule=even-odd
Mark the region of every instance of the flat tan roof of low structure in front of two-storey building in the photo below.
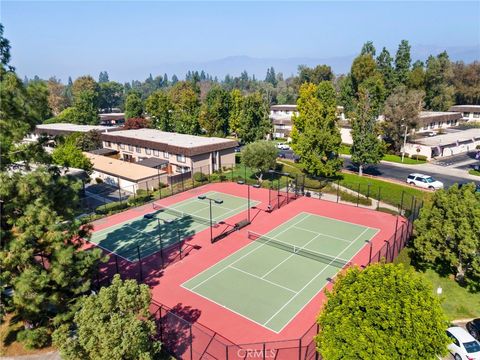
<svg viewBox="0 0 480 360">
<path fill-rule="evenodd" d="M 165 171 L 112 159 L 102 155 L 95 155 L 88 152 L 84 152 L 84 154 L 92 162 L 94 170 L 132 182 L 158 177 L 159 174 L 165 173 Z"/>
</svg>

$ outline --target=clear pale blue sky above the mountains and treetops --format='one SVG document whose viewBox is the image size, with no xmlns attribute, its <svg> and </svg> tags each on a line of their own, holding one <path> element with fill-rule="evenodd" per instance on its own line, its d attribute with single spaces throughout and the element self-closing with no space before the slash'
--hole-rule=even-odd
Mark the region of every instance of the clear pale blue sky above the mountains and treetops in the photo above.
<svg viewBox="0 0 480 360">
<path fill-rule="evenodd" d="M 392 53 L 402 39 L 480 49 L 479 1 L 2 0 L 0 6 L 11 62 L 29 77 L 65 80 L 107 70 L 126 81 L 166 64 L 231 56 L 350 56 L 367 40 Z"/>
</svg>

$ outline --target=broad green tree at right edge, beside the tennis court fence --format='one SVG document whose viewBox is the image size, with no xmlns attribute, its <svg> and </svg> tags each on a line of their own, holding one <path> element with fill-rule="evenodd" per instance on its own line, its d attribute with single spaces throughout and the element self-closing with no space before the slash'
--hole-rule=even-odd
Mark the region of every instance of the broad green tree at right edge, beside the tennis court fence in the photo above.
<svg viewBox="0 0 480 360">
<path fill-rule="evenodd" d="M 413 247 L 420 266 L 480 291 L 480 194 L 474 184 L 436 191 L 415 221 Z"/>
</svg>

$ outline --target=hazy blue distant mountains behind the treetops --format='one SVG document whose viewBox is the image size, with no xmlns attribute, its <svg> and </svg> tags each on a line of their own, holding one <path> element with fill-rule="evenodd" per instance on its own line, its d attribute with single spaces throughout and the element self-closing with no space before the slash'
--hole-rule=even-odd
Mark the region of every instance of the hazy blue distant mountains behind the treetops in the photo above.
<svg viewBox="0 0 480 360">
<path fill-rule="evenodd" d="M 429 55 L 437 55 L 445 50 L 453 61 L 462 60 L 469 63 L 480 60 L 480 46 L 441 47 L 433 45 L 412 46 L 412 59 L 413 61 L 425 61 Z M 391 54 L 395 56 L 395 50 L 391 51 Z M 219 79 L 223 79 L 227 74 L 238 76 L 242 71 L 246 70 L 249 75 L 255 75 L 258 79 L 263 79 L 267 68 L 270 66 L 273 66 L 277 73 L 281 72 L 284 77 L 288 77 L 297 73 L 299 65 L 311 67 L 318 64 L 327 64 L 332 67 L 336 74 L 342 74 L 350 70 L 352 60 L 355 56 L 355 54 L 330 58 L 255 58 L 250 56 L 229 56 L 222 59 L 202 62 L 163 63 L 156 65 L 154 68 L 146 69 L 145 73 L 163 74 L 166 72 L 170 75 L 176 74 L 179 78 L 183 78 L 188 70 L 204 70 L 212 76 L 218 76 Z"/>
</svg>

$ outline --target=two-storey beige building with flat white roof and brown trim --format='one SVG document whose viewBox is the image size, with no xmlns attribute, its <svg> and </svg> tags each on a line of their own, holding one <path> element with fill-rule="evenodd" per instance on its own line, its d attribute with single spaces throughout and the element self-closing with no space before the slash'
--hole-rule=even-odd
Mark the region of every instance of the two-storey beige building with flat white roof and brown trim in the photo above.
<svg viewBox="0 0 480 360">
<path fill-rule="evenodd" d="M 117 150 L 120 159 L 146 158 L 168 161 L 170 174 L 212 173 L 235 164 L 237 142 L 229 139 L 185 135 L 154 129 L 120 130 L 102 134 L 103 147 Z"/>
</svg>

